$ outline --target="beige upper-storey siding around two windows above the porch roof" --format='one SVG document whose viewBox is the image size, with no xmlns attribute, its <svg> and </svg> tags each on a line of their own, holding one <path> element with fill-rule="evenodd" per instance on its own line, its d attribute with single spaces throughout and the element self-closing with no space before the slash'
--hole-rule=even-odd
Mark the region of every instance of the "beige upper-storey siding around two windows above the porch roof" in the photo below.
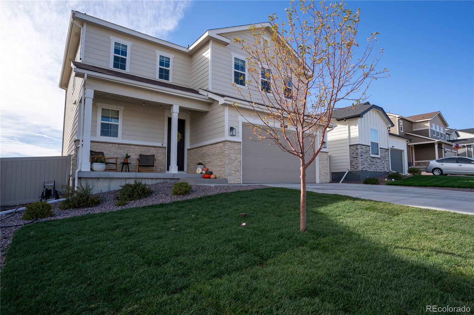
<svg viewBox="0 0 474 315">
<path fill-rule="evenodd" d="M 110 36 L 122 38 L 132 43 L 130 49 L 130 74 L 156 79 L 156 50 L 173 54 L 172 82 L 182 86 L 190 85 L 191 57 L 177 51 L 125 34 L 109 31 L 99 26 L 87 25 L 85 36 L 84 62 L 103 68 L 110 66 Z"/>
</svg>

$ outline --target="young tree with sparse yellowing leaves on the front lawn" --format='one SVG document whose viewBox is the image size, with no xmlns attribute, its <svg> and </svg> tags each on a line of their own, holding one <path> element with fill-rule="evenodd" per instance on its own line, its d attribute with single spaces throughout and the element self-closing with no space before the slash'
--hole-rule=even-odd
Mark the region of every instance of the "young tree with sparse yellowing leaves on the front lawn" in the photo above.
<svg viewBox="0 0 474 315">
<path fill-rule="evenodd" d="M 378 33 L 359 49 L 359 11 L 343 2 L 291 1 L 286 21 L 269 17 L 270 32 L 253 25 L 252 40 L 235 39 L 249 55 L 248 78 L 243 75 L 239 82 L 248 90 L 234 86 L 262 121 L 246 119 L 256 140 L 270 139 L 300 159 L 300 231 L 306 230 L 306 169 L 322 148 L 333 109 L 344 100 L 360 104 L 372 80 L 388 76 L 386 69 L 375 70 L 383 53 L 376 52 Z M 234 106 L 239 112 L 244 107 Z"/>
</svg>

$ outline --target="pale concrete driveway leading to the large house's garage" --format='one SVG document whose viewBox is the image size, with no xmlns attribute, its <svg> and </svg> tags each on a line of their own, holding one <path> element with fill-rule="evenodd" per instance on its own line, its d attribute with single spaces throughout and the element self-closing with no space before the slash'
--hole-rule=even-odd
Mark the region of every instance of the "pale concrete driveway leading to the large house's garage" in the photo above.
<svg viewBox="0 0 474 315">
<path fill-rule="evenodd" d="M 263 184 L 300 189 L 300 184 Z M 407 206 L 474 214 L 474 193 L 452 190 L 364 184 L 307 184 L 315 193 L 337 193 Z"/>
</svg>

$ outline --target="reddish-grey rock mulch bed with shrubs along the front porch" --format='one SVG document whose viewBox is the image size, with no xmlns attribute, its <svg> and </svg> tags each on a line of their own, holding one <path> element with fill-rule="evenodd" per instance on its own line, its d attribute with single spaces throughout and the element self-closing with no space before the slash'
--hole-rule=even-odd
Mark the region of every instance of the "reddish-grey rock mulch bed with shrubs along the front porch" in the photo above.
<svg viewBox="0 0 474 315">
<path fill-rule="evenodd" d="M 198 197 L 203 197 L 203 196 L 210 196 L 210 195 L 215 195 L 218 193 L 232 193 L 232 192 L 237 192 L 241 190 L 260 189 L 260 188 L 267 187 L 263 185 L 248 185 L 248 186 L 247 185 L 228 185 L 228 186 L 226 185 L 223 185 L 223 186 L 191 185 L 192 190 L 189 195 L 173 196 L 171 194 L 172 186 L 173 186 L 173 183 L 151 184 L 149 185 L 149 187 L 151 188 L 153 193 L 149 197 L 141 199 L 141 200 L 137 200 L 137 201 L 130 201 L 127 205 L 121 206 L 121 207 L 117 207 L 114 205 L 115 202 L 117 201 L 118 190 L 107 192 L 107 193 L 99 193 L 100 197 L 102 198 L 102 202 L 99 205 L 95 207 L 90 207 L 90 208 L 60 210 L 59 209 L 60 202 L 56 202 L 52 204 L 54 217 L 38 219 L 31 224 L 35 224 L 36 222 L 41 222 L 41 221 L 46 221 L 46 220 L 76 217 L 76 216 L 81 216 L 81 215 L 89 214 L 89 213 L 109 212 L 109 211 L 115 211 L 115 210 L 126 209 L 126 208 L 143 207 L 143 206 L 159 204 L 159 203 L 166 203 L 166 202 L 172 202 L 172 201 L 198 198 Z M 2 207 L 1 210 L 15 209 L 18 206 L 23 206 L 23 205 L 6 206 L 6 207 Z M 0 221 L 0 242 L 1 242 L 0 268 L 3 266 L 3 263 L 5 261 L 5 253 L 7 251 L 8 245 L 11 243 L 13 234 L 15 233 L 16 230 L 18 230 L 18 228 L 21 228 L 21 226 L 9 227 L 9 228 L 3 228 L 3 227 L 28 223 L 27 221 L 24 221 L 21 219 L 21 216 L 23 215 L 23 211 L 18 211 L 13 216 L 10 216 L 10 215 L 11 213 L 0 216 L 0 220 L 1 220 Z"/>
</svg>

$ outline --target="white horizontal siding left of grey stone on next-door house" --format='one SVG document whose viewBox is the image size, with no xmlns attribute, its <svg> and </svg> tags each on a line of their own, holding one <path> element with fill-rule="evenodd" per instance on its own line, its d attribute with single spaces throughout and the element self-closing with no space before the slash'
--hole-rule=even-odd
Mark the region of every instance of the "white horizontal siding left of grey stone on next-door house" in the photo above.
<svg viewBox="0 0 474 315">
<path fill-rule="evenodd" d="M 331 157 L 331 172 L 345 172 L 349 166 L 347 144 L 347 125 L 339 123 L 328 132 L 328 151 Z"/>
</svg>

